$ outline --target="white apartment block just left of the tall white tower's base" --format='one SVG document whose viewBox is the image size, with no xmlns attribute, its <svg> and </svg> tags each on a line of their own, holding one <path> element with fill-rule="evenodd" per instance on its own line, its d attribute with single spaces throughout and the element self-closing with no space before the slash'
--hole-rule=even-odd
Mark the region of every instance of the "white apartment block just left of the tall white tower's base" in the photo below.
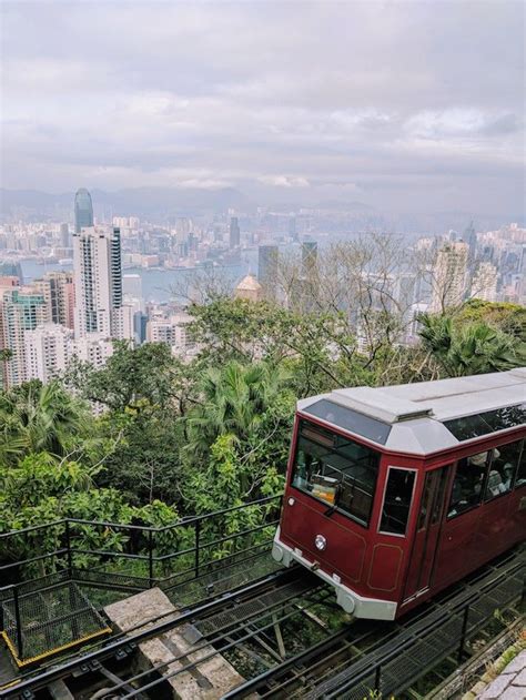
<svg viewBox="0 0 526 700">
<path fill-rule="evenodd" d="M 73 332 L 55 323 L 39 325 L 24 334 L 26 381 L 51 382 L 69 362 Z"/>
</svg>

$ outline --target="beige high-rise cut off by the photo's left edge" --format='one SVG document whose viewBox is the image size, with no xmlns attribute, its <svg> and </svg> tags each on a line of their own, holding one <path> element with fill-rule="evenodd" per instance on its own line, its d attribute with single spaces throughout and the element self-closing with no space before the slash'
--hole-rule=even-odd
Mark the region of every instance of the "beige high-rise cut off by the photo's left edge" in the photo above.
<svg viewBox="0 0 526 700">
<path fill-rule="evenodd" d="M 26 382 L 26 334 L 49 321 L 48 305 L 34 287 L 4 290 L 0 302 L 0 343 L 9 351 L 3 363 L 3 384 L 17 386 Z"/>
</svg>

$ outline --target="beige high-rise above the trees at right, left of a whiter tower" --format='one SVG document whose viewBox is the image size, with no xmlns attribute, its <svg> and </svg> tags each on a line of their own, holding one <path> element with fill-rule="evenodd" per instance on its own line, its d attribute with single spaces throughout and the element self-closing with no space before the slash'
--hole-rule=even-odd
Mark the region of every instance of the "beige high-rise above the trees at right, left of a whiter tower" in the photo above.
<svg viewBox="0 0 526 700">
<path fill-rule="evenodd" d="M 432 312 L 458 306 L 466 293 L 469 246 L 463 241 L 446 243 L 436 255 L 433 270 Z"/>
</svg>

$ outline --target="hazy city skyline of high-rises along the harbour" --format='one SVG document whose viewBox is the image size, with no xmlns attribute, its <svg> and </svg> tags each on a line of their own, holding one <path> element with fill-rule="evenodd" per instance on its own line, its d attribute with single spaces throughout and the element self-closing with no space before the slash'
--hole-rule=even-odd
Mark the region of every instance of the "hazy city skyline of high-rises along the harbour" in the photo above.
<svg viewBox="0 0 526 700">
<path fill-rule="evenodd" d="M 188 333 L 189 302 L 206 303 L 211 293 L 212 298 L 220 294 L 251 303 L 266 300 L 283 308 L 317 313 L 318 304 L 326 303 L 323 288 L 327 284 L 331 288 L 338 268 L 336 277 L 343 273 L 345 282 L 333 290 L 333 303 L 348 315 L 361 353 L 371 347 L 372 336 L 364 324 L 370 314 L 388 311 L 398 316 L 397 343 L 411 346 L 418 337 L 422 312 L 457 308 L 472 297 L 518 303 L 526 298 L 526 229 L 516 223 L 477 231 L 471 222 L 463 232 L 418 237 L 407 243 L 396 263 L 383 260 L 383 251 L 394 244 L 390 257 L 395 255 L 401 236 L 391 243 L 390 236 L 375 234 L 368 242 L 366 236 L 337 243 L 318 231 L 320 246 L 308 214 L 274 214 L 269 220 L 264 211 L 255 219 L 225 212 L 201 223 L 180 217 L 163 229 L 134 215 L 114 216 L 105 224 L 94 221 L 91 193 L 85 189 L 77 191 L 72 204 L 72 235 L 63 222 L 0 224 L 0 349 L 8 352 L 2 358 L 4 387 L 29 379 L 49 382 L 74 358 L 101 367 L 113 354 L 115 339 L 131 346 L 164 343 L 173 355 L 189 359 L 199 353 L 199 344 Z M 377 255 L 356 266 L 361 255 L 348 257 L 342 245 L 347 253 L 357 245 L 365 254 L 363 262 L 371 245 Z M 239 275 L 230 283 L 221 278 L 225 263 L 241 272 L 247 251 L 257 253 L 257 277 L 249 267 L 241 280 Z M 20 261 L 28 254 L 40 255 L 41 262 L 71 254 L 59 265 L 72 264 L 73 271 L 48 271 L 23 284 Z M 172 288 L 166 303 L 145 303 L 141 276 L 123 275 L 123 268 L 138 263 L 146 270 L 198 274 L 186 278 L 186 302 L 181 303 Z M 201 280 L 204 297 L 199 296 L 199 271 L 205 274 Z M 360 316 L 364 300 L 365 316 Z"/>
</svg>

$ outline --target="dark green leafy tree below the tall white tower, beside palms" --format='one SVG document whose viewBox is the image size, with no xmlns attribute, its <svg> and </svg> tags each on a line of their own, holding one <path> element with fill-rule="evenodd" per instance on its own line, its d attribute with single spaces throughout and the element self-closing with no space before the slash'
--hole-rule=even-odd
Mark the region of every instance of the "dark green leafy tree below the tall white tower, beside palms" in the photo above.
<svg viewBox="0 0 526 700">
<path fill-rule="evenodd" d="M 114 443 L 97 484 L 120 489 L 140 506 L 180 498 L 178 479 L 185 424 L 199 367 L 183 364 L 162 343 L 131 347 L 115 343 L 107 365 L 81 363 L 64 377 L 82 395 L 105 407 L 97 429 Z"/>
</svg>

